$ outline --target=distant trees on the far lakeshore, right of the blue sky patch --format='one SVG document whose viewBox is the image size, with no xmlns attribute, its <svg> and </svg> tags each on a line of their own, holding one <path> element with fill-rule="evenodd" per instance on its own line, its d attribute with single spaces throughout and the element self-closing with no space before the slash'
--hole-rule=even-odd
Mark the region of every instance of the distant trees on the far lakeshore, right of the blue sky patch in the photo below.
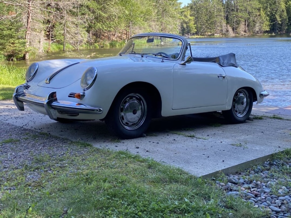
<svg viewBox="0 0 291 218">
<path fill-rule="evenodd" d="M 291 32 L 291 0 L 192 0 L 184 10 L 184 18 L 188 17 L 196 26 L 189 28 L 181 19 L 182 34 L 234 36 Z"/>
</svg>

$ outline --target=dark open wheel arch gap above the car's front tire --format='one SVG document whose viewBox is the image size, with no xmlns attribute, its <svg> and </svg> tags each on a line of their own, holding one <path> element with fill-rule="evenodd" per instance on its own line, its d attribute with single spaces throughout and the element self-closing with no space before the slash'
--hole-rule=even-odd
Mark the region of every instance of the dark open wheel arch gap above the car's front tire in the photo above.
<svg viewBox="0 0 291 218">
<path fill-rule="evenodd" d="M 158 117 L 162 117 L 162 98 L 161 98 L 161 94 L 159 92 L 159 90 L 152 85 L 151 83 L 148 82 L 142 82 L 142 81 L 136 81 L 136 82 L 132 82 L 132 83 L 128 83 L 127 85 L 123 86 L 118 93 L 116 94 L 116 96 L 114 97 L 109 110 L 111 110 L 111 107 L 113 105 L 113 103 L 115 102 L 116 98 L 118 97 L 118 95 L 123 92 L 123 90 L 127 89 L 127 88 L 143 88 L 146 89 L 149 93 L 149 95 L 152 97 L 152 104 L 153 104 L 153 114 L 152 114 L 152 118 L 158 118 Z M 108 113 L 107 113 L 108 114 Z"/>
</svg>

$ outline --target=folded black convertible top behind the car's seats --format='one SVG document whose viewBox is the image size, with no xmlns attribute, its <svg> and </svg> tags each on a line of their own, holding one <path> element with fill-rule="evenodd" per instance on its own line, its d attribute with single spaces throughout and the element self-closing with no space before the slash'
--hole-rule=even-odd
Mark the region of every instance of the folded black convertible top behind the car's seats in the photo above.
<svg viewBox="0 0 291 218">
<path fill-rule="evenodd" d="M 193 57 L 193 61 L 218 63 L 222 67 L 238 67 L 234 53 L 229 53 L 218 57 Z"/>
</svg>

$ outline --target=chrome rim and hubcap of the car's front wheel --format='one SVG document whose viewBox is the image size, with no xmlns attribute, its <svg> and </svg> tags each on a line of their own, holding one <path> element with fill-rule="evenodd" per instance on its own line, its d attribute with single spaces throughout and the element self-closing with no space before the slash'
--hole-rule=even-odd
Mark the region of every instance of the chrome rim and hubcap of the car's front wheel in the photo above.
<svg viewBox="0 0 291 218">
<path fill-rule="evenodd" d="M 119 107 L 120 123 L 128 130 L 139 128 L 145 121 L 146 114 L 146 102 L 140 94 L 127 95 Z"/>
</svg>

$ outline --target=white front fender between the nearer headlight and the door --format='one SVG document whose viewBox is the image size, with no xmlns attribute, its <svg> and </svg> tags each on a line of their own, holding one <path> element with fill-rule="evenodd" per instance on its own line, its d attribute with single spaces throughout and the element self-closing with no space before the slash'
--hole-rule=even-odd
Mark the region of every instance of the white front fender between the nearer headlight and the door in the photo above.
<svg viewBox="0 0 291 218">
<path fill-rule="evenodd" d="M 162 99 L 162 107 L 171 108 L 173 99 L 173 63 L 169 62 L 133 62 L 130 64 L 102 65 L 97 68 L 95 84 L 86 90 L 91 106 L 102 107 L 102 116 L 106 116 L 119 90 L 133 82 L 146 82 L 154 85 Z"/>
</svg>

